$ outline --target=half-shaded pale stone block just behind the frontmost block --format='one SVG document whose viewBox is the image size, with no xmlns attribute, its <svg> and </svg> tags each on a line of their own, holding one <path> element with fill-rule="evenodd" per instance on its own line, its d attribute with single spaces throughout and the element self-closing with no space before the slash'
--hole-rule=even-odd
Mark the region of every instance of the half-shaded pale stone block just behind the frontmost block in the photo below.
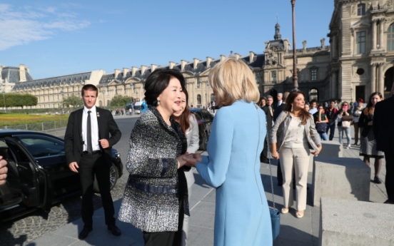
<svg viewBox="0 0 394 246">
<path fill-rule="evenodd" d="M 369 200 L 370 167 L 359 158 L 318 156 L 313 166 L 314 207 L 320 207 L 320 198 Z"/>
</svg>

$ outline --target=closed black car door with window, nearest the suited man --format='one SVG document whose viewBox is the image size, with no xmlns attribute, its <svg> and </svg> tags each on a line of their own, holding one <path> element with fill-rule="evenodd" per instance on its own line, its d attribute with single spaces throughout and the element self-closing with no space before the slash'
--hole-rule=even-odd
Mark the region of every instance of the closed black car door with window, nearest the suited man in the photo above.
<svg viewBox="0 0 394 246">
<path fill-rule="evenodd" d="M 29 151 L 36 163 L 49 173 L 53 186 L 52 200 L 80 192 L 79 175 L 71 172 L 66 163 L 64 141 L 49 135 L 26 134 L 16 138 Z"/>
</svg>

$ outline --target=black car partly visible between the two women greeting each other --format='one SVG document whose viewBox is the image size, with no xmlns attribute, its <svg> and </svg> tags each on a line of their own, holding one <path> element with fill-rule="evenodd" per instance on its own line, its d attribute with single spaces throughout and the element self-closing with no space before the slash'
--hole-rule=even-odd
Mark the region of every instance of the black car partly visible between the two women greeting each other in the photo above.
<svg viewBox="0 0 394 246">
<path fill-rule="evenodd" d="M 208 138 L 211 134 L 213 116 L 204 108 L 190 108 L 197 118 L 198 132 L 200 136 L 200 150 L 206 150 Z"/>
</svg>

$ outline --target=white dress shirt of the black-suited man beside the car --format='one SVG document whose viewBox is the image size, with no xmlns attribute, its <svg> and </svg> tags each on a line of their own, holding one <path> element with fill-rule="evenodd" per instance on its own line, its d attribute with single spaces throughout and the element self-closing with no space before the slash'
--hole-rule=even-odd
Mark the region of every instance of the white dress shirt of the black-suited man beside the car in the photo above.
<svg viewBox="0 0 394 246">
<path fill-rule="evenodd" d="M 98 123 L 97 123 L 97 113 L 96 106 L 88 109 L 84 106 L 84 113 L 82 113 L 82 138 L 84 139 L 84 151 L 88 150 L 88 141 L 86 134 L 86 123 L 88 122 L 88 111 L 91 111 L 91 147 L 92 150 L 100 150 L 100 145 L 98 143 Z"/>
</svg>

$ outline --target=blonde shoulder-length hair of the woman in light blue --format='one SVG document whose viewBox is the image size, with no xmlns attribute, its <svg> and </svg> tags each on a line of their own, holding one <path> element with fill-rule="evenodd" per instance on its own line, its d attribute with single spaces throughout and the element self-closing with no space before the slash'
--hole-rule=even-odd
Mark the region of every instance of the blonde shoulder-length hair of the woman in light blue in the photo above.
<svg viewBox="0 0 394 246">
<path fill-rule="evenodd" d="M 256 78 L 246 63 L 228 57 L 214 66 L 208 81 L 216 91 L 216 105 L 230 106 L 237 100 L 259 101 Z"/>
</svg>

